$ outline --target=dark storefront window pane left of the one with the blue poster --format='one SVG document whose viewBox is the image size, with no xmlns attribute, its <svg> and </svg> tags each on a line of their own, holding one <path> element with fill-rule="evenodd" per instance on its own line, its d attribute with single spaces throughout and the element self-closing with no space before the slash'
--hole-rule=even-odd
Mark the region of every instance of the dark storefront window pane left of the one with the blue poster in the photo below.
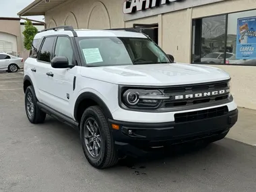
<svg viewBox="0 0 256 192">
<path fill-rule="evenodd" d="M 194 20 L 193 63 L 224 63 L 225 34 L 226 15 Z"/>
</svg>

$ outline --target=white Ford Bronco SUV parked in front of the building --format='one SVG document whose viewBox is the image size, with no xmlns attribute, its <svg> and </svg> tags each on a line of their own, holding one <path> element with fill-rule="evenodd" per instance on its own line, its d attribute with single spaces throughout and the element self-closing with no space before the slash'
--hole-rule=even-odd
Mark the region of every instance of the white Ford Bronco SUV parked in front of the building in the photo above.
<svg viewBox="0 0 256 192">
<path fill-rule="evenodd" d="M 238 119 L 230 76 L 172 63 L 135 30 L 51 28 L 34 37 L 24 64 L 26 115 L 79 130 L 84 154 L 106 168 L 174 143 L 226 136 Z"/>
</svg>

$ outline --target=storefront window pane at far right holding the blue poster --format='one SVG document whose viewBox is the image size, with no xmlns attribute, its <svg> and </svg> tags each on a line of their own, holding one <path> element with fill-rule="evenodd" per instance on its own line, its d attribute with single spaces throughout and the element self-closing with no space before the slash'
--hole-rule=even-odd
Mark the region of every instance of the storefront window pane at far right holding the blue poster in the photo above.
<svg viewBox="0 0 256 192">
<path fill-rule="evenodd" d="M 228 14 L 226 64 L 256 65 L 256 10 Z"/>
</svg>

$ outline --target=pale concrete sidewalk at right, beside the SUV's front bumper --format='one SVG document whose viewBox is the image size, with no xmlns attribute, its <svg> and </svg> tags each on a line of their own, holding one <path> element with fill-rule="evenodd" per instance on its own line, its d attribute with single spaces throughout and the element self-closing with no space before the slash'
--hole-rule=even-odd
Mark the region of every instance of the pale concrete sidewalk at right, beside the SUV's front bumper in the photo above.
<svg viewBox="0 0 256 192">
<path fill-rule="evenodd" d="M 256 110 L 238 108 L 238 121 L 226 137 L 256 146 Z"/>
</svg>

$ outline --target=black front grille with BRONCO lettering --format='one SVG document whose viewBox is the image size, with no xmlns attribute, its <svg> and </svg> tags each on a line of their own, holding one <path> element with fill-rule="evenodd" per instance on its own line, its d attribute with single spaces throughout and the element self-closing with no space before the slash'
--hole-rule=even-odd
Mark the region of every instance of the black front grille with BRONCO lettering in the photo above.
<svg viewBox="0 0 256 192">
<path fill-rule="evenodd" d="M 216 94 L 210 96 L 201 96 L 201 97 L 193 97 L 193 98 L 183 98 L 180 100 L 175 100 L 175 96 L 186 96 L 188 94 L 195 95 L 203 92 L 214 92 L 220 90 L 229 90 L 228 80 L 222 82 L 212 82 L 206 84 L 192 84 L 185 86 L 175 86 L 171 88 L 164 88 L 161 91 L 166 96 L 170 96 L 170 100 L 164 100 L 162 104 L 162 108 L 172 108 L 175 106 L 188 106 L 194 104 L 202 104 L 207 102 L 214 102 L 220 100 L 228 99 L 228 92 L 224 92 L 224 94 Z"/>
</svg>

